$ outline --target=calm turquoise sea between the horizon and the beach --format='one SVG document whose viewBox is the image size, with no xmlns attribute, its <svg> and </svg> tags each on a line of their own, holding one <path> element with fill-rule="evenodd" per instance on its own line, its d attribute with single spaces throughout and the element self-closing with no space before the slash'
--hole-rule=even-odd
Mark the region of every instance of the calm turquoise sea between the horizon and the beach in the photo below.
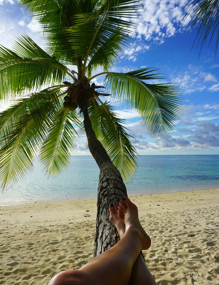
<svg viewBox="0 0 219 285">
<path fill-rule="evenodd" d="M 144 155 L 126 183 L 129 195 L 219 188 L 219 155 Z M 0 205 L 40 200 L 96 198 L 99 169 L 91 156 L 71 156 L 67 170 L 57 178 L 34 171 L 15 189 L 0 193 Z"/>
</svg>

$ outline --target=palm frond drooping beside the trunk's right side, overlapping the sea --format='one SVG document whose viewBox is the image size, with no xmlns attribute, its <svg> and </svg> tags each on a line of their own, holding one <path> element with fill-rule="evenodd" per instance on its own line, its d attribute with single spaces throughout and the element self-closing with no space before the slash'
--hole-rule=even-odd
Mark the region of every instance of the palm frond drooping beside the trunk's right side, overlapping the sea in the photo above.
<svg viewBox="0 0 219 285">
<path fill-rule="evenodd" d="M 89 115 L 97 139 L 106 149 L 115 167 L 127 180 L 137 169 L 136 151 L 132 146 L 125 121 L 118 118 L 109 103 L 99 105 L 96 99 L 91 100 Z"/>
</svg>

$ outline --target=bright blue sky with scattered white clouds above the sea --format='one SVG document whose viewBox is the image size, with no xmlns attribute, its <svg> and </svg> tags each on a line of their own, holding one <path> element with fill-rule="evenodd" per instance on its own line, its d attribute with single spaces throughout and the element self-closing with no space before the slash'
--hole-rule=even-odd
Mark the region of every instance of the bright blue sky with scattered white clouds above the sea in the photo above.
<svg viewBox="0 0 219 285">
<path fill-rule="evenodd" d="M 128 72 L 144 67 L 158 69 L 162 83 L 181 88 L 184 105 L 176 130 L 158 139 L 150 134 L 135 110 L 116 101 L 115 112 L 126 119 L 126 127 L 135 137 L 132 143 L 139 154 L 219 154 L 219 61 L 214 43 L 193 46 L 196 30 L 186 29 L 190 18 L 182 18 L 187 0 L 143 0 L 141 17 L 134 20 L 137 31 L 124 47 L 125 54 L 112 71 Z M 0 0 L 0 44 L 11 47 L 19 33 L 28 34 L 45 47 L 39 23 L 14 0 Z M 97 78 L 101 83 L 103 78 Z M 74 155 L 89 154 L 81 134 Z"/>
</svg>

